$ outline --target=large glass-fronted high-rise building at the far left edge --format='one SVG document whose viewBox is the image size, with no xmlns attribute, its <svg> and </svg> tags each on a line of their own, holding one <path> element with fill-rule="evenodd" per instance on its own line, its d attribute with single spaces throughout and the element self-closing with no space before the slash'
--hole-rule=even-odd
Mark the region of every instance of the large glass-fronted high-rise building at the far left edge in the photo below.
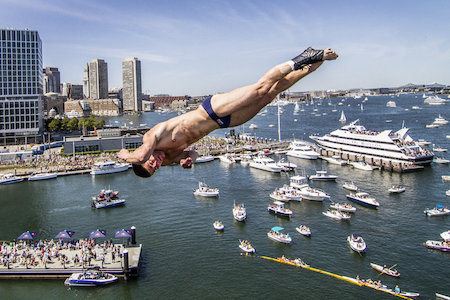
<svg viewBox="0 0 450 300">
<path fill-rule="evenodd" d="M 0 29 L 0 145 L 39 141 L 41 97 L 38 32 Z"/>
</svg>

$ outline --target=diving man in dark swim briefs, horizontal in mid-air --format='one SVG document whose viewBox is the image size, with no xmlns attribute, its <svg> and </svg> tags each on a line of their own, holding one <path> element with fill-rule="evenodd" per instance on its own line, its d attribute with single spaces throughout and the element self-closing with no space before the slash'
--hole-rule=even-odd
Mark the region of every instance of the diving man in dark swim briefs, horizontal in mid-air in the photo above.
<svg viewBox="0 0 450 300">
<path fill-rule="evenodd" d="M 269 69 L 256 83 L 206 98 L 196 110 L 161 122 L 147 131 L 142 145 L 130 152 L 122 149 L 120 159 L 133 165 L 136 175 L 150 177 L 160 166 L 179 163 L 191 168 L 198 154 L 187 147 L 218 128 L 235 127 L 252 119 L 280 92 L 319 68 L 337 53 L 330 48 L 309 47 L 292 60 Z"/>
</svg>

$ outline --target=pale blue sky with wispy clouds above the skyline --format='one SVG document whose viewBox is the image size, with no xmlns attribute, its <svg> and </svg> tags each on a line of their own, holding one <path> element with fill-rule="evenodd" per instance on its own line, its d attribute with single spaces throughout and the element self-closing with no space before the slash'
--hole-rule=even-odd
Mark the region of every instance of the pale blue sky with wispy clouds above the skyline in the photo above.
<svg viewBox="0 0 450 300">
<path fill-rule="evenodd" d="M 102 58 L 121 87 L 134 56 L 152 95 L 226 92 L 308 46 L 340 57 L 291 91 L 450 84 L 449 16 L 447 0 L 0 0 L 0 28 L 37 30 L 62 81 Z"/>
</svg>

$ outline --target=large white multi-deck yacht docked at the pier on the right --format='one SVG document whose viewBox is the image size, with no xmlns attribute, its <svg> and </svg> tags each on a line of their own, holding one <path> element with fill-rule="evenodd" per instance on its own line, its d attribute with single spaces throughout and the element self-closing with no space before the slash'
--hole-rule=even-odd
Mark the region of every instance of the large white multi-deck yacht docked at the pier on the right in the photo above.
<svg viewBox="0 0 450 300">
<path fill-rule="evenodd" d="M 422 148 L 408 135 L 408 128 L 373 131 L 359 125 L 359 119 L 324 136 L 310 136 L 320 147 L 343 155 L 353 155 L 366 162 L 426 165 L 433 152 Z"/>
</svg>

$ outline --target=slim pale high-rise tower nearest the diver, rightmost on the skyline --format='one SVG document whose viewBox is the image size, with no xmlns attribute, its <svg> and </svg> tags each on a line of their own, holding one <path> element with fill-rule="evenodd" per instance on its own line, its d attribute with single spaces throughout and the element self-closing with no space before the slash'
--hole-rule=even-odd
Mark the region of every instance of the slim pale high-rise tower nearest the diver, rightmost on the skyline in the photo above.
<svg viewBox="0 0 450 300">
<path fill-rule="evenodd" d="M 123 111 L 142 110 L 141 61 L 136 57 L 122 62 Z"/>
</svg>

